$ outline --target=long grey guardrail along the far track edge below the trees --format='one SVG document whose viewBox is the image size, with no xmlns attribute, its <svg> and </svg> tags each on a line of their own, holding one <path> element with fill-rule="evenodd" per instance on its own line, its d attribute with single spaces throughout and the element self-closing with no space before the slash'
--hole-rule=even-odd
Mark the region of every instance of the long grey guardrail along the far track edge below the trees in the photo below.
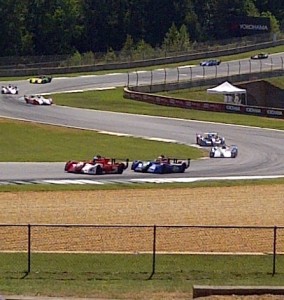
<svg viewBox="0 0 284 300">
<path fill-rule="evenodd" d="M 0 67 L 0 77 L 17 77 L 17 76 L 33 76 L 33 75 L 54 75 L 54 74 L 70 74 L 70 73 L 80 73 L 80 72 L 97 72 L 97 71 L 107 71 L 107 70 L 117 70 L 117 69 L 133 69 L 133 68 L 143 68 L 149 66 L 157 66 L 163 64 L 180 63 L 197 59 L 206 59 L 209 57 L 218 57 L 233 55 L 238 53 L 244 53 L 247 51 L 256 51 L 258 49 L 274 47 L 284 44 L 284 39 L 271 40 L 266 42 L 255 42 L 249 45 L 242 45 L 242 43 L 236 43 L 235 45 L 220 45 L 216 46 L 215 50 L 198 49 L 193 50 L 192 53 L 165 53 L 163 57 L 154 57 L 148 59 L 140 60 L 126 60 L 126 61 L 100 61 L 97 63 L 92 63 L 88 65 L 79 66 L 60 66 L 64 65 L 65 56 L 62 56 L 62 61 L 58 61 L 58 66 L 47 67 L 47 64 L 54 64 L 53 62 L 42 62 L 29 64 L 26 63 L 27 59 L 24 59 L 23 63 L 14 64 L 14 66 L 7 65 Z M 42 58 L 41 58 L 42 60 Z M 49 57 L 50 60 L 50 57 Z"/>
</svg>

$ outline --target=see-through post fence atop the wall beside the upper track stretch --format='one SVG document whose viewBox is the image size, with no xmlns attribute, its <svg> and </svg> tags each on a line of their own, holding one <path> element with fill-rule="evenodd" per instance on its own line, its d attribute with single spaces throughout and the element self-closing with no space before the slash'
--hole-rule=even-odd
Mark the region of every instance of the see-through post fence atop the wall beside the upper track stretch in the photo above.
<svg viewBox="0 0 284 300">
<path fill-rule="evenodd" d="M 243 59 L 235 62 L 222 62 L 218 66 L 182 66 L 150 71 L 132 71 L 128 73 L 127 87 L 148 86 L 148 92 L 170 90 L 170 84 L 177 88 L 188 88 L 193 82 L 198 86 L 212 84 L 210 79 L 226 79 L 232 82 L 248 81 L 272 76 L 283 76 L 284 56 L 274 56 L 266 60 Z M 203 82 L 203 83 L 202 83 Z M 186 83 L 184 86 L 182 84 Z M 162 85 L 161 85 L 162 84 Z M 215 83 L 214 83 L 215 84 Z M 155 87 L 156 85 L 156 87 Z M 160 85 L 160 86 L 158 86 Z"/>
</svg>

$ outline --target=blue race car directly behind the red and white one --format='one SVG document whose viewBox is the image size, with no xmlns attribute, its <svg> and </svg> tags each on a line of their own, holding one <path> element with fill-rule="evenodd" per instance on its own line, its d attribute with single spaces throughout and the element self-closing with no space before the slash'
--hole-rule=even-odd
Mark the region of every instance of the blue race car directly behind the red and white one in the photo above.
<svg viewBox="0 0 284 300">
<path fill-rule="evenodd" d="M 176 158 L 158 158 L 153 161 L 134 160 L 131 165 L 131 170 L 142 173 L 184 173 L 190 166 L 190 158 L 176 159 Z"/>
</svg>

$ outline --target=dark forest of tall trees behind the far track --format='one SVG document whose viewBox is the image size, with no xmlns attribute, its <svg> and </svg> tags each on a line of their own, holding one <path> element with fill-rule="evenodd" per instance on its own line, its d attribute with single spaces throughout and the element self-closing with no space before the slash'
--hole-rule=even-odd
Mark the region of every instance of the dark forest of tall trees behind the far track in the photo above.
<svg viewBox="0 0 284 300">
<path fill-rule="evenodd" d="M 232 17 L 284 28 L 283 0 L 0 0 L 0 56 L 164 48 L 231 37 Z"/>
</svg>

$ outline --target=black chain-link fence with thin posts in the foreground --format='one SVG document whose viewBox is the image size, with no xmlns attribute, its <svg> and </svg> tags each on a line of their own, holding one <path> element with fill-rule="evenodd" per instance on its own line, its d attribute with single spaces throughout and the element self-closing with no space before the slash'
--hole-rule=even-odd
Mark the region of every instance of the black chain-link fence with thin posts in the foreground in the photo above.
<svg viewBox="0 0 284 300">
<path fill-rule="evenodd" d="M 37 255 L 50 255 L 48 263 Z M 284 227 L 281 226 L 158 226 L 158 225 L 79 225 L 27 224 L 0 225 L 0 273 L 70 271 L 73 259 L 82 259 L 85 272 L 100 270 L 100 261 L 91 263 L 74 254 L 139 257 L 147 264 L 136 272 L 156 273 L 161 255 L 259 255 L 271 259 L 267 273 L 277 273 L 277 259 L 284 254 Z M 58 257 L 60 255 L 60 262 Z M 62 261 L 66 264 L 62 265 Z M 173 261 L 174 263 L 174 261 Z M 205 262 L 206 263 L 206 262 Z M 43 264 L 43 266 L 41 266 Z M 109 272 L 117 272 L 117 265 Z M 172 266 L 174 267 L 174 266 Z M 113 268 L 113 269 L 112 269 Z M 137 267 L 139 268 L 139 267 Z M 257 266 L 253 266 L 257 272 Z M 284 272 L 283 266 L 281 273 Z M 120 270 L 121 271 L 121 270 Z"/>
</svg>

